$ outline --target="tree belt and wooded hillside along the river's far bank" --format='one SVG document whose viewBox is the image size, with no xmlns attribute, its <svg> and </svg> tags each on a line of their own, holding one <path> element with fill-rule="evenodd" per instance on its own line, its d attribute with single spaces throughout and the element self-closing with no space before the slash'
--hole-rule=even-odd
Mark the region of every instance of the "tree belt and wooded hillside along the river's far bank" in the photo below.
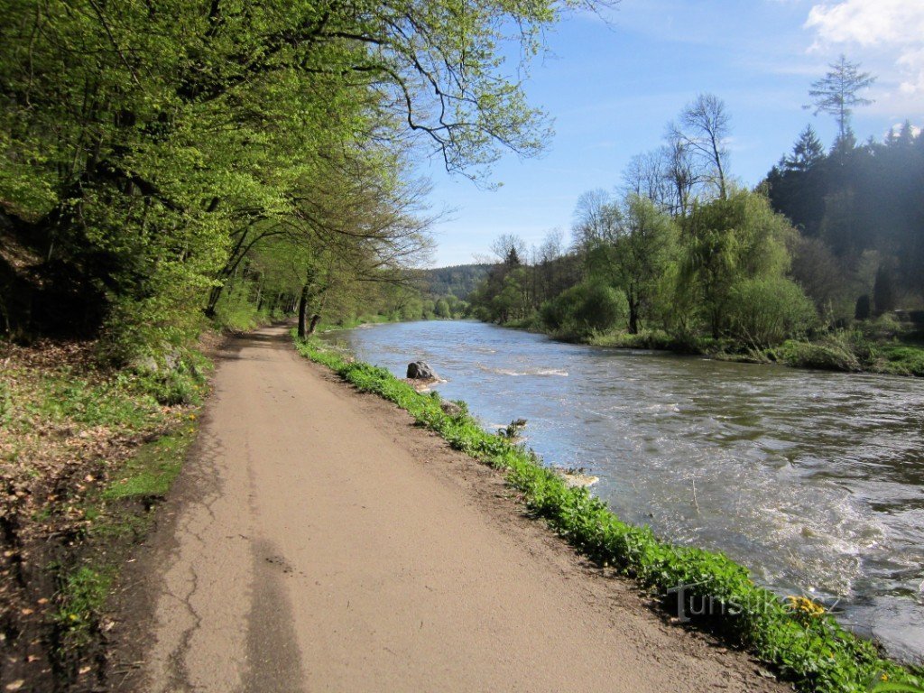
<svg viewBox="0 0 924 693">
<path fill-rule="evenodd" d="M 857 143 L 872 77 L 845 57 L 810 92 L 811 126 L 754 189 L 731 175 L 731 114 L 700 94 L 613 193 L 577 200 L 572 241 L 499 237 L 469 298 L 481 320 L 608 346 L 834 370 L 924 374 L 924 135 Z"/>
</svg>

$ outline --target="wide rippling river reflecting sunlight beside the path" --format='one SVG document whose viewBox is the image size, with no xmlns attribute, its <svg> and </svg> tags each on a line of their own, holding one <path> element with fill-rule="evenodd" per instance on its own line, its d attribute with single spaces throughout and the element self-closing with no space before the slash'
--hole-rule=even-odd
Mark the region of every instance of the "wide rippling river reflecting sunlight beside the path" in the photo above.
<svg viewBox="0 0 924 693">
<path fill-rule="evenodd" d="M 924 656 L 924 381 L 554 342 L 481 322 L 326 335 L 403 377 L 427 361 L 486 427 L 529 421 L 547 464 L 670 541 L 720 550 L 780 594 L 835 605 Z"/>
</svg>

